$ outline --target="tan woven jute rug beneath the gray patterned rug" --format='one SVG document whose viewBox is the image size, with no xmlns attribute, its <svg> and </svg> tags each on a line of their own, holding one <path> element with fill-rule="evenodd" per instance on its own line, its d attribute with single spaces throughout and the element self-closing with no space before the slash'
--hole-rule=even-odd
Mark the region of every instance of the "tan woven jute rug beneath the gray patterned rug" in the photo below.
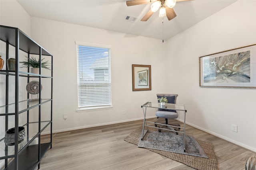
<svg viewBox="0 0 256 170">
<path fill-rule="evenodd" d="M 148 127 L 149 131 L 158 131 L 158 129 Z M 140 140 L 140 134 L 142 132 L 142 126 L 132 133 L 124 138 L 124 141 L 132 143 L 134 145 L 138 145 Z M 211 143 L 197 140 L 198 144 L 202 147 L 204 152 L 207 154 L 208 158 L 202 158 L 198 156 L 191 156 L 186 154 L 180 154 L 180 153 L 174 153 L 174 152 L 167 152 L 162 150 L 156 150 L 156 149 L 148 149 L 152 152 L 156 152 L 158 154 L 161 154 L 167 158 L 170 158 L 172 160 L 176 160 L 178 162 L 181 162 L 183 164 L 186 164 L 187 166 L 190 166 L 194 169 L 198 170 L 218 170 L 217 167 L 217 160 L 214 154 L 214 148 Z"/>
</svg>

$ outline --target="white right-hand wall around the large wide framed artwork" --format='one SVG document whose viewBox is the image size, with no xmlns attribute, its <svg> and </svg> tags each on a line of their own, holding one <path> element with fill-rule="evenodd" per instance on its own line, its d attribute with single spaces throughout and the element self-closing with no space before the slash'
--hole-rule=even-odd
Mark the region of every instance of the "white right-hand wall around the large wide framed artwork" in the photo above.
<svg viewBox="0 0 256 170">
<path fill-rule="evenodd" d="M 187 122 L 254 151 L 256 89 L 199 87 L 199 57 L 256 43 L 255 6 L 254 0 L 238 0 L 168 40 L 170 88 L 185 104 Z"/>
</svg>

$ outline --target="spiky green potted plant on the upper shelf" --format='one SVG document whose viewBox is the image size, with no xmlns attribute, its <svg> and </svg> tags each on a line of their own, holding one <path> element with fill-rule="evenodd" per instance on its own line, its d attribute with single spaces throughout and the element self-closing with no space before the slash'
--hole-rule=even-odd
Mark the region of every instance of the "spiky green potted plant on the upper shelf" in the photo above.
<svg viewBox="0 0 256 170">
<path fill-rule="evenodd" d="M 37 60 L 33 56 L 31 58 L 28 58 L 27 56 L 25 56 L 25 57 L 26 57 L 25 61 L 20 61 L 20 63 L 22 64 L 21 68 L 31 67 L 30 68 L 31 72 L 38 74 L 38 68 L 40 67 L 40 60 L 39 59 Z M 42 61 L 41 61 L 41 67 L 50 70 L 50 68 L 49 68 L 50 65 L 49 65 L 48 61 L 43 62 L 43 60 L 44 59 L 42 59 Z M 34 68 L 36 68 L 36 69 L 34 69 Z"/>
</svg>

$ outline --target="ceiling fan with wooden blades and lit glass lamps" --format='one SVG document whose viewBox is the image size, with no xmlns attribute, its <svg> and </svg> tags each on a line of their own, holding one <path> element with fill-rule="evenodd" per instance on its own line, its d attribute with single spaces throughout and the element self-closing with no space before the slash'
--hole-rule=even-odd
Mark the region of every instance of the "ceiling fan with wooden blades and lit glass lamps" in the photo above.
<svg viewBox="0 0 256 170">
<path fill-rule="evenodd" d="M 147 21 L 154 14 L 154 12 L 156 12 L 159 8 L 160 8 L 159 17 L 166 16 L 170 21 L 176 17 L 176 14 L 172 8 L 175 6 L 176 2 L 181 2 L 181 1 L 189 1 L 189 0 L 128 0 L 126 1 L 126 5 L 133 6 L 133 5 L 152 3 L 151 9 L 140 21 Z"/>
</svg>

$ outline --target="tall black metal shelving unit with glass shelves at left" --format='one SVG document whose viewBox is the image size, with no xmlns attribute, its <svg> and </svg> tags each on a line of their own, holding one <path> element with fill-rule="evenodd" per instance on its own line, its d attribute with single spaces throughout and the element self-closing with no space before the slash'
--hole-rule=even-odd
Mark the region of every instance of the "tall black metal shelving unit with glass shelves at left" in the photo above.
<svg viewBox="0 0 256 170">
<path fill-rule="evenodd" d="M 15 27 L 0 25 L 0 41 L 6 45 L 6 50 L 4 51 L 5 63 L 10 57 L 10 51 L 14 53 L 16 60 L 15 70 L 8 70 L 7 64 L 4 70 L 0 70 L 0 89 L 1 92 L 5 91 L 5 94 L 0 94 L 1 100 L 5 100 L 5 102 L 0 102 L 0 121 L 3 122 L 4 120 L 5 122 L 4 126 L 0 125 L 0 149 L 2 149 L 2 151 L 0 150 L 0 169 L 34 170 L 36 167 L 39 169 L 40 160 L 46 151 L 52 148 L 53 56 Z M 39 74 L 31 73 L 29 68 L 27 68 L 27 71 L 22 70 L 19 61 L 22 59 L 20 54 L 24 53 L 28 57 L 36 55 L 40 61 L 47 57 L 50 61 L 50 70 L 44 72 L 41 66 Z M 33 99 L 34 94 L 26 92 L 24 85 L 21 85 L 29 83 L 31 80 L 38 80 L 40 84 L 36 100 Z M 42 84 L 48 89 L 46 90 L 46 95 L 42 92 Z M 15 87 L 15 89 L 11 87 Z M 10 93 L 14 94 L 14 90 L 15 95 L 10 96 Z M 13 146 L 8 146 L 4 143 L 5 137 L 3 134 L 12 126 L 15 127 L 15 142 Z M 22 143 L 18 143 L 19 126 L 23 126 L 26 129 L 26 136 Z M 50 134 L 44 134 L 44 132 L 48 131 L 50 131 Z M 48 136 L 46 141 L 41 141 L 42 133 Z"/>
</svg>

